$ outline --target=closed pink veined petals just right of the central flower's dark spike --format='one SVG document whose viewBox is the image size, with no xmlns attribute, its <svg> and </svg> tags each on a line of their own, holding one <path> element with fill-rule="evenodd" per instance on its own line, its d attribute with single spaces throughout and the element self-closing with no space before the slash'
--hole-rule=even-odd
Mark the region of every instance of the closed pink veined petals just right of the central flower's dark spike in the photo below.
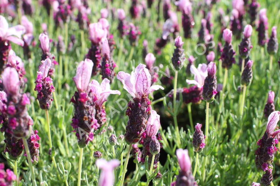
<svg viewBox="0 0 280 186">
<path fill-rule="evenodd" d="M 160 126 L 160 116 L 156 113 L 155 110 L 152 110 L 146 126 L 146 135 L 150 138 L 152 136 L 155 136 Z"/>
</svg>

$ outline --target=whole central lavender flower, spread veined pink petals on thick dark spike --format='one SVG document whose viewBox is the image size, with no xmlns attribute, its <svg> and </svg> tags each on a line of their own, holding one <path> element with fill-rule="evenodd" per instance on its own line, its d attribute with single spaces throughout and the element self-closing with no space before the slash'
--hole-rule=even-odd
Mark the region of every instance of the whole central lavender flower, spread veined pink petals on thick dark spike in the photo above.
<svg viewBox="0 0 280 186">
<path fill-rule="evenodd" d="M 126 115 L 128 122 L 126 126 L 125 140 L 128 144 L 137 143 L 146 128 L 146 121 L 150 113 L 150 100 L 148 95 L 162 86 L 151 86 L 151 75 L 146 65 L 139 64 L 131 75 L 123 71 L 117 74 L 117 78 L 123 83 L 124 89 L 133 97 L 133 102 L 128 103 Z"/>
</svg>

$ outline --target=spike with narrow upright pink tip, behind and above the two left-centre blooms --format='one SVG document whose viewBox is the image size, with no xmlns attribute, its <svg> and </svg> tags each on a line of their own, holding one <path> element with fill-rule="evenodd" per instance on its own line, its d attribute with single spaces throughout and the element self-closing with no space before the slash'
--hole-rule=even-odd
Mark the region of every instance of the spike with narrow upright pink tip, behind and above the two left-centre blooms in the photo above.
<svg viewBox="0 0 280 186">
<path fill-rule="evenodd" d="M 116 73 L 114 71 L 116 64 L 110 56 L 110 47 L 109 47 L 107 38 L 102 38 L 101 54 L 103 55 L 102 62 L 101 62 L 101 70 L 100 70 L 102 79 L 108 78 L 110 80 L 110 82 L 112 82 L 114 79 L 114 76 L 116 75 Z"/>
</svg>

